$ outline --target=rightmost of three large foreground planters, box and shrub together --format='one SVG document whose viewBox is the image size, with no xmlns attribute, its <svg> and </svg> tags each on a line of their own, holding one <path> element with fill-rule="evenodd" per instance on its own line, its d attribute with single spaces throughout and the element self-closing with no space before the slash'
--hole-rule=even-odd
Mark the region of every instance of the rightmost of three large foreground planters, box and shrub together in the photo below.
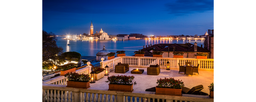
<svg viewBox="0 0 256 102">
<path fill-rule="evenodd" d="M 156 82 L 155 94 L 182 96 L 182 87 L 184 82 L 174 78 L 160 78 Z"/>
</svg>

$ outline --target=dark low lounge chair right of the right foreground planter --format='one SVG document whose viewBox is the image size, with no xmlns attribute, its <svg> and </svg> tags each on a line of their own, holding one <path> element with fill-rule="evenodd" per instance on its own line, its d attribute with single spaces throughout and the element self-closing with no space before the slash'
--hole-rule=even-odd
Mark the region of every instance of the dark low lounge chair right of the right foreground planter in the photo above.
<svg viewBox="0 0 256 102">
<path fill-rule="evenodd" d="M 182 94 L 198 94 L 198 95 L 201 95 L 200 92 L 201 92 L 202 89 L 203 89 L 202 85 L 194 86 L 191 89 L 184 86 L 184 87 L 182 87 Z"/>
</svg>

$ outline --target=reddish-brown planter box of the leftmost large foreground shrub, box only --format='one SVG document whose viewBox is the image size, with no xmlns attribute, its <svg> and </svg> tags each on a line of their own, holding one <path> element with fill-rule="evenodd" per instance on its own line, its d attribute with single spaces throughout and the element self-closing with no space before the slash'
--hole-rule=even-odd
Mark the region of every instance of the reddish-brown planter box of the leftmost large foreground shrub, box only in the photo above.
<svg viewBox="0 0 256 102">
<path fill-rule="evenodd" d="M 89 82 L 67 81 L 67 86 L 66 87 L 87 89 L 87 88 L 89 88 L 91 86 L 90 86 L 90 81 Z"/>
</svg>

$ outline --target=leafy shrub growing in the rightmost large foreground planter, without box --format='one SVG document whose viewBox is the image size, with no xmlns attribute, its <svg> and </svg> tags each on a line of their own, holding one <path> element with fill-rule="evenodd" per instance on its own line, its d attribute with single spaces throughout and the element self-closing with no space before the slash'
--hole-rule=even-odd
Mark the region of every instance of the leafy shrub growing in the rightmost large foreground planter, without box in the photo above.
<svg viewBox="0 0 256 102">
<path fill-rule="evenodd" d="M 182 82 L 182 80 L 180 81 L 180 79 L 175 80 L 174 78 L 157 78 L 157 82 L 158 85 L 157 87 L 165 87 L 165 88 L 177 88 L 177 89 L 181 89 L 181 87 L 184 86 L 184 82 Z"/>
</svg>

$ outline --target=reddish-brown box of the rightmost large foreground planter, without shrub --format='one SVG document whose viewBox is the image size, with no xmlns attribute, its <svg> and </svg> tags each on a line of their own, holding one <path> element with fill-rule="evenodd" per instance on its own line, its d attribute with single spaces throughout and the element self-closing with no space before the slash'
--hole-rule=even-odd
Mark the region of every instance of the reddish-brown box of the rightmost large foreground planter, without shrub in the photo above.
<svg viewBox="0 0 256 102">
<path fill-rule="evenodd" d="M 182 89 L 155 87 L 155 94 L 182 96 Z"/>
</svg>

